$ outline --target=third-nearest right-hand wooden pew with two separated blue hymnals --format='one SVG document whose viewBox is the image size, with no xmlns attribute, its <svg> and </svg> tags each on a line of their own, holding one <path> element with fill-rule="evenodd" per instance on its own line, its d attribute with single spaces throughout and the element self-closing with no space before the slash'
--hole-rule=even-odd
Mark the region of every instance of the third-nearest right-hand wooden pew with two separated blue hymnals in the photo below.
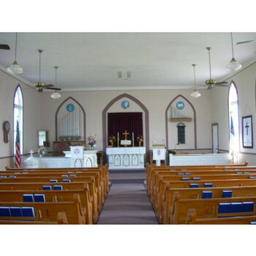
<svg viewBox="0 0 256 256">
<path fill-rule="evenodd" d="M 203 191 L 211 191 L 212 198 L 222 198 L 223 190 L 232 190 L 232 198 L 239 197 L 253 197 L 255 196 L 255 186 L 226 186 L 226 187 L 204 187 L 204 188 L 170 188 L 167 187 L 165 191 L 165 197 L 162 198 L 162 204 L 160 204 L 157 210 L 158 222 L 166 222 L 169 218 L 170 206 L 174 203 L 174 194 L 179 194 L 179 199 L 200 199 L 202 198 Z"/>
</svg>

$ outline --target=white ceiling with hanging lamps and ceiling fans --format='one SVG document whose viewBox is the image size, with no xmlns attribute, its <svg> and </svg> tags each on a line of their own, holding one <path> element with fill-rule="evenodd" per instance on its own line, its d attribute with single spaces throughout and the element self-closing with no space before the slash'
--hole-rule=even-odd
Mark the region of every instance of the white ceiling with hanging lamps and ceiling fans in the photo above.
<svg viewBox="0 0 256 256">
<path fill-rule="evenodd" d="M 234 33 L 234 57 L 243 68 L 256 61 L 256 33 Z M 0 68 L 14 62 L 15 33 L 0 33 Z M 38 49 L 42 49 L 41 80 L 69 90 L 177 89 L 209 79 L 206 46 L 211 46 L 212 78 L 217 82 L 232 74 L 225 66 L 232 57 L 230 33 L 18 33 L 17 61 L 20 77 L 33 86 L 38 82 Z M 118 71 L 131 71 L 119 79 Z M 207 87 L 205 87 L 207 88 Z"/>
</svg>

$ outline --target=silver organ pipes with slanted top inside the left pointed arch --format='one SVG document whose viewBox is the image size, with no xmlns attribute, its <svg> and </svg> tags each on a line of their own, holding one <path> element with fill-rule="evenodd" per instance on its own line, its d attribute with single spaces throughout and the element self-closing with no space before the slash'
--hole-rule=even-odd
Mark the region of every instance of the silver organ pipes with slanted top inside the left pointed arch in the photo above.
<svg viewBox="0 0 256 256">
<path fill-rule="evenodd" d="M 60 137 L 78 137 L 79 131 L 79 110 L 74 109 L 60 122 Z"/>
</svg>

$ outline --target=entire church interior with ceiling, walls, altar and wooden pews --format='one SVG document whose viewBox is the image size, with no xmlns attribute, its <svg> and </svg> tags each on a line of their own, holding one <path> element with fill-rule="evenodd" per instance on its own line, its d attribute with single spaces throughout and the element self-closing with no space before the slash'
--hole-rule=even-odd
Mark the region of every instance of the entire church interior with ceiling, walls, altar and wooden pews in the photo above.
<svg viewBox="0 0 256 256">
<path fill-rule="evenodd" d="M 255 46 L 1 32 L 0 223 L 31 224 L 30 204 L 38 225 L 255 224 Z"/>
</svg>

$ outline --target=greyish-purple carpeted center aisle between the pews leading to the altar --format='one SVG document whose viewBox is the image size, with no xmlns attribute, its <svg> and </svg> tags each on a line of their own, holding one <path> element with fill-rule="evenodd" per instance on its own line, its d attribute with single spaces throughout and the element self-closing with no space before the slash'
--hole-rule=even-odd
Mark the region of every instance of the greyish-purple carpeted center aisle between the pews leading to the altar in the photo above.
<svg viewBox="0 0 256 256">
<path fill-rule="evenodd" d="M 158 224 L 144 186 L 145 170 L 110 170 L 110 192 L 98 224 Z"/>
</svg>

